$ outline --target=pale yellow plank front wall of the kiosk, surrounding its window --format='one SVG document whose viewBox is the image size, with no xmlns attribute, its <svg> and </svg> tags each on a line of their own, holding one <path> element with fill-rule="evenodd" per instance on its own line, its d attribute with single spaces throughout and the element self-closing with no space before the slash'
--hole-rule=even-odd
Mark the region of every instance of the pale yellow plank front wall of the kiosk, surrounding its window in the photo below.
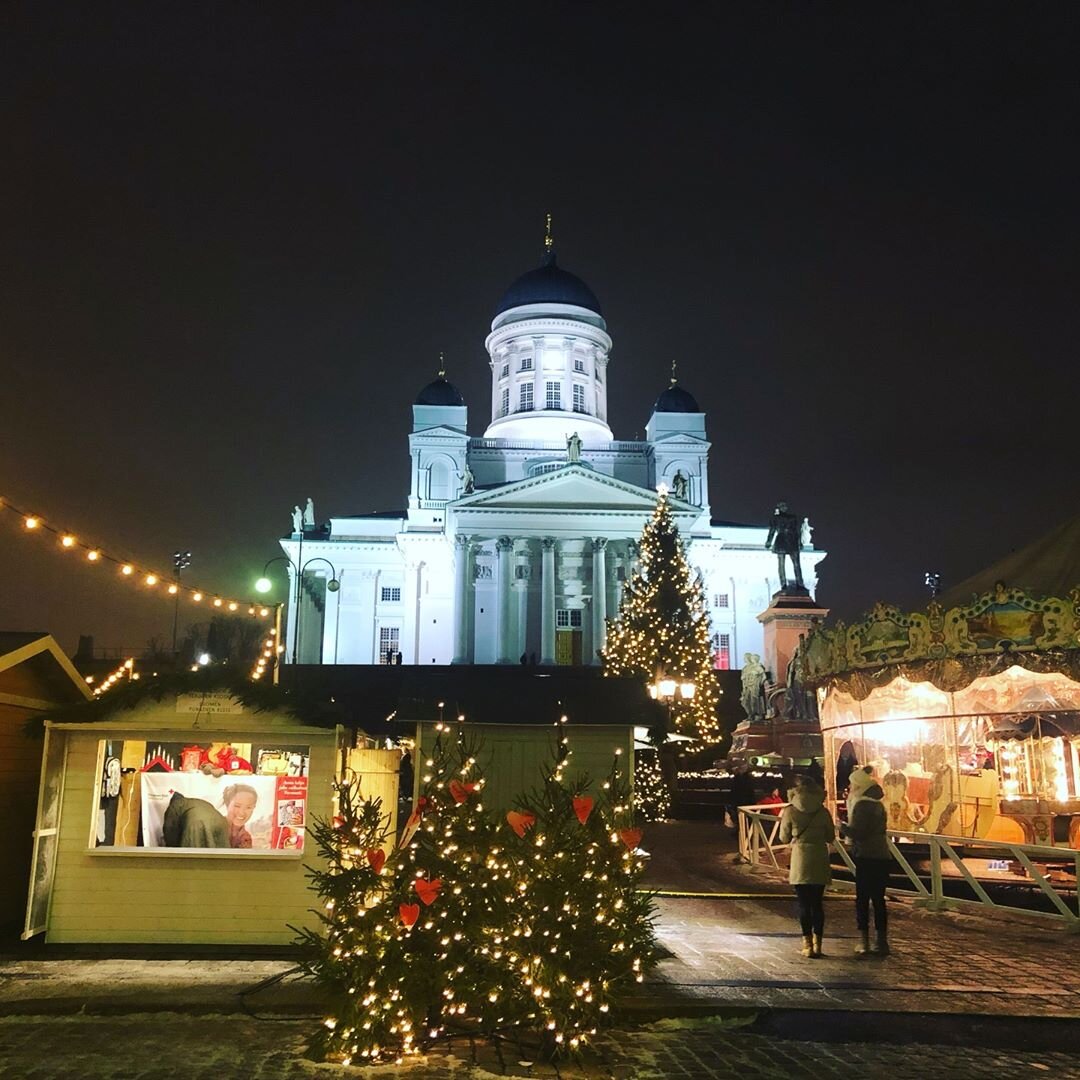
<svg viewBox="0 0 1080 1080">
<path fill-rule="evenodd" d="M 264 729 L 268 730 L 268 729 Z M 299 859 L 95 855 L 89 853 L 97 806 L 97 746 L 103 738 L 147 738 L 146 730 L 68 731 L 59 847 L 49 915 L 50 942 L 287 944 L 293 926 L 314 926 L 318 897 Z M 237 733 L 237 741 L 252 738 Z M 311 746 L 308 813 L 332 814 L 334 735 L 291 737 Z"/>
</svg>

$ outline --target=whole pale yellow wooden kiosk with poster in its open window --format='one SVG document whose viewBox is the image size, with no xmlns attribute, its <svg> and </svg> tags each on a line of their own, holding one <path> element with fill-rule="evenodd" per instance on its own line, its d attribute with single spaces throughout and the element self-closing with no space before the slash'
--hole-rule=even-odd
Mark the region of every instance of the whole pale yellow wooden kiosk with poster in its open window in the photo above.
<svg viewBox="0 0 1080 1080">
<path fill-rule="evenodd" d="M 341 727 L 229 691 L 48 720 L 24 937 L 291 942 L 346 754 Z"/>
</svg>

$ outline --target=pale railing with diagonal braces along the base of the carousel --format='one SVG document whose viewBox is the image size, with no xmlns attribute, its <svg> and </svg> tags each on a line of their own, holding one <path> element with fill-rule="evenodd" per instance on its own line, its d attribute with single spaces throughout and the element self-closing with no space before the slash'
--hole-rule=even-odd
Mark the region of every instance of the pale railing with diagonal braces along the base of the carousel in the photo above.
<svg viewBox="0 0 1080 1080">
<path fill-rule="evenodd" d="M 783 804 L 786 806 L 787 804 Z M 789 843 L 780 842 L 781 805 L 739 808 L 739 853 L 752 866 L 771 866 L 786 872 Z M 919 848 L 913 848 L 918 845 Z M 845 865 L 855 873 L 848 848 L 837 840 L 833 849 Z M 976 907 L 993 912 L 1023 913 L 1050 920 L 1074 933 L 1080 933 L 1080 851 L 1072 848 L 1036 847 L 1000 840 L 969 840 L 936 833 L 889 833 L 889 850 L 903 886 L 890 885 L 889 891 L 914 897 L 916 904 L 941 912 Z M 916 858 L 918 854 L 918 858 Z M 976 877 L 967 862 L 981 859 L 989 863 L 986 873 Z M 918 863 L 913 865 L 913 861 Z M 922 864 L 928 863 L 923 868 Z M 1018 870 L 1018 873 L 1017 873 Z M 893 875 L 895 880 L 896 875 Z M 847 882 L 834 882 L 845 887 Z M 973 896 L 957 896 L 949 886 L 967 887 Z M 1000 887 L 1005 888 L 1000 888 Z M 1050 910 L 1009 903 L 1016 886 L 1029 896 L 1040 897 Z M 997 893 L 997 897 L 991 893 Z"/>
</svg>

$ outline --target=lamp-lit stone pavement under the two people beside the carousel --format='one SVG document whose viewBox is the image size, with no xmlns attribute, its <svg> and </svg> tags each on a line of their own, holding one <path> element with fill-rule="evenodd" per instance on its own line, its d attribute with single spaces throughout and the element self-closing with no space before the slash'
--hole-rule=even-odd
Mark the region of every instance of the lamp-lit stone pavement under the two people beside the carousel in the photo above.
<svg viewBox="0 0 1080 1080">
<path fill-rule="evenodd" d="M 652 975 L 657 996 L 773 1008 L 1080 1016 L 1080 969 L 1062 963 L 1080 939 L 956 913 L 890 903 L 888 959 L 855 957 L 854 903 L 829 894 L 825 958 L 799 955 L 795 905 L 782 880 L 734 862 L 727 829 L 651 825 L 649 881 L 705 897 L 661 897 L 657 930 L 671 956 Z"/>
</svg>

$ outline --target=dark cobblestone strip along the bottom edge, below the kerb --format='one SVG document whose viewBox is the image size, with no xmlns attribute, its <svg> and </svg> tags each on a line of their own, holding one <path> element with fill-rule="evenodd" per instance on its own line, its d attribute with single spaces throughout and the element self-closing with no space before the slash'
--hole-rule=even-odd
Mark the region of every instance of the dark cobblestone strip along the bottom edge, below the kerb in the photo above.
<svg viewBox="0 0 1080 1080">
<path fill-rule="evenodd" d="M 455 1043 L 406 1066 L 341 1068 L 300 1055 L 309 1022 L 171 1013 L 112 1017 L 0 1018 L 0 1077 L 18 1080 L 787 1080 L 851 1076 L 1080 1077 L 1074 1054 L 909 1043 L 775 1039 L 716 1020 L 661 1021 L 600 1036 L 588 1057 L 559 1069 L 522 1064 L 509 1048 Z"/>
</svg>

